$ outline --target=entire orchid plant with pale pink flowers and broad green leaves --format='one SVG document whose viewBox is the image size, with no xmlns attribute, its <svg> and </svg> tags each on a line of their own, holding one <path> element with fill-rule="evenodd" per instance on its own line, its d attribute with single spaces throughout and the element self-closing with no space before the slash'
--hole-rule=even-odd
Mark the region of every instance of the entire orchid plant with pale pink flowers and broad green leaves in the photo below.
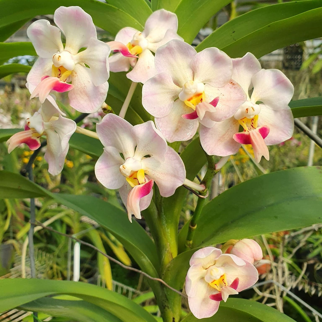
<svg viewBox="0 0 322 322">
<path fill-rule="evenodd" d="M 248 237 L 317 223 L 317 216 L 308 214 L 302 204 L 319 193 L 311 181 L 321 175 L 313 168 L 265 174 L 211 201 L 208 190 L 214 175 L 241 145 L 251 145 L 253 162 L 260 168 L 262 156 L 269 160 L 268 146 L 292 136 L 294 113 L 297 117 L 316 113 L 304 105 L 295 105 L 298 110 L 294 112 L 289 106 L 292 83 L 279 70 L 262 69 L 257 59 L 303 38 L 294 33 L 278 41 L 272 31 L 271 42 L 256 38 L 255 45 L 251 41 L 253 34 L 266 36 L 269 30 L 265 33 L 262 29 L 274 26 L 282 19 L 279 13 L 292 7 L 298 13 L 289 14 L 288 24 L 281 27 L 289 33 L 285 30 L 296 26 L 298 15 L 321 9 L 309 7 L 313 2 L 279 3 L 254 10 L 224 24 L 194 47 L 190 43 L 200 28 L 229 1 L 204 2 L 198 7 L 188 0 L 136 0 L 131 5 L 128 1 L 79 1 L 79 6 L 49 2 L 45 10 L 31 0 L 22 6 L 30 5 L 32 13 L 17 8 L 10 15 L 13 5 L 2 0 L 7 12 L 3 14 L 5 22 L 0 23 L 0 35 L 33 14 L 51 12 L 55 24 L 40 19 L 27 29 L 39 57 L 28 73 L 26 86 L 30 98 L 39 99 L 42 106 L 26 120 L 24 131 L 8 138 L 8 153 L 24 143 L 36 150 L 36 155 L 47 145 L 48 171 L 59 175 L 69 140 L 77 132 L 79 139 L 73 140 L 73 147 L 96 157 L 97 180 L 107 189 L 118 190 L 122 205 L 116 207 L 93 196 L 52 194 L 23 177 L 2 172 L 4 182 L 11 178 L 16 189 L 23 186 L 24 197 L 56 198 L 115 235 L 147 277 L 164 322 L 224 320 L 226 313 L 241 322 L 256 314 L 264 322 L 291 321 L 273 308 L 236 298 L 259 279 L 256 265 L 262 260 L 262 249 Z M 263 15 L 269 21 L 261 21 Z M 243 29 L 246 22 L 251 28 L 248 33 Z M 94 23 L 115 39 L 107 43 L 99 40 Z M 307 30 L 305 39 L 316 36 L 316 29 Z M 6 50 L 6 43 L 3 48 Z M 55 92 L 66 92 L 71 108 L 83 114 L 75 121 L 66 118 Z M 107 115 L 96 131 L 76 125 L 101 108 Z M 91 142 L 88 147 L 80 139 L 85 136 Z M 204 166 L 206 170 L 201 172 Z M 32 167 L 27 171 L 32 172 Z M 309 179 L 303 180 L 305 176 Z M 285 193 L 299 182 L 305 191 L 298 198 L 300 202 Z M 272 186 L 277 186 L 276 191 Z M 1 190 L 1 196 L 8 197 L 9 192 Z M 196 195 L 197 203 L 178 233 L 187 194 Z M 295 211 L 301 211 L 301 218 L 308 214 L 309 219 L 301 223 L 290 220 Z M 281 219 L 272 222 L 277 213 Z M 149 232 L 137 219 L 145 219 Z M 34 224 L 31 217 L 31 247 Z M 32 275 L 35 277 L 34 270 Z M 88 315 L 79 317 L 84 322 L 155 322 L 157 318 L 123 296 L 98 287 L 33 279 L 22 283 L 24 290 L 15 288 L 14 280 L 0 280 L 0 311 L 19 306 L 73 317 L 71 312 L 80 308 L 88 310 Z M 82 301 L 46 298 L 58 294 Z M 191 312 L 186 317 L 182 299 L 187 299 Z"/>
</svg>

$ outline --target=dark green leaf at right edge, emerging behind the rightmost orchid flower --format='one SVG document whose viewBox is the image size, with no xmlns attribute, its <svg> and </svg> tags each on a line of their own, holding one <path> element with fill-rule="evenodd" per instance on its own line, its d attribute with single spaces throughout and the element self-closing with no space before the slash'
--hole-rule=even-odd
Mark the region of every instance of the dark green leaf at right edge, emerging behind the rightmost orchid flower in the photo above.
<svg viewBox="0 0 322 322">
<path fill-rule="evenodd" d="M 322 115 L 322 98 L 299 99 L 289 102 L 294 118 Z"/>
</svg>

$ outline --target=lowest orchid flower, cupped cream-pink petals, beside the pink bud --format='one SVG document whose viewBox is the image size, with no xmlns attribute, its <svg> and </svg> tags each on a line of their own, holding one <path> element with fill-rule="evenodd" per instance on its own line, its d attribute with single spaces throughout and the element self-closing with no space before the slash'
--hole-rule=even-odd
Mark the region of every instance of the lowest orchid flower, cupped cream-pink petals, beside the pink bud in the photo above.
<svg viewBox="0 0 322 322">
<path fill-rule="evenodd" d="M 212 317 L 221 300 L 254 285 L 258 272 L 254 265 L 215 247 L 196 251 L 190 259 L 185 279 L 189 308 L 198 319 Z"/>
</svg>

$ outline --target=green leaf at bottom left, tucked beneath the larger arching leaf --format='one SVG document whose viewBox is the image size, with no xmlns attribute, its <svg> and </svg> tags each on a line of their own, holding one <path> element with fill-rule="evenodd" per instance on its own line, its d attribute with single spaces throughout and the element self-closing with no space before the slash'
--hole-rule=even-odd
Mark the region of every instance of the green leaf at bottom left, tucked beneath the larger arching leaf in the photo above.
<svg viewBox="0 0 322 322">
<path fill-rule="evenodd" d="M 72 318 L 80 322 L 122 322 L 118 317 L 86 301 L 39 298 L 20 306 L 25 311 L 41 312 L 55 317 Z"/>
</svg>

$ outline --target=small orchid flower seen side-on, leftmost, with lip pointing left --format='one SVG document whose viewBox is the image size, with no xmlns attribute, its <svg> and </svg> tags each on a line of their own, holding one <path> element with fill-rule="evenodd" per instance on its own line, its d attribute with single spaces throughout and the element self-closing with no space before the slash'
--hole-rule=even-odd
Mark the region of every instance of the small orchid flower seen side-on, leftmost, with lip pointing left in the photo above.
<svg viewBox="0 0 322 322">
<path fill-rule="evenodd" d="M 46 99 L 38 112 L 27 118 L 25 130 L 14 134 L 7 141 L 8 153 L 22 143 L 36 150 L 40 147 L 40 137 L 46 135 L 47 150 L 44 158 L 49 165 L 48 172 L 52 175 L 61 173 L 69 149 L 68 141 L 76 130 L 76 123 L 62 115 L 65 114 L 57 104 L 53 105 Z"/>
</svg>

